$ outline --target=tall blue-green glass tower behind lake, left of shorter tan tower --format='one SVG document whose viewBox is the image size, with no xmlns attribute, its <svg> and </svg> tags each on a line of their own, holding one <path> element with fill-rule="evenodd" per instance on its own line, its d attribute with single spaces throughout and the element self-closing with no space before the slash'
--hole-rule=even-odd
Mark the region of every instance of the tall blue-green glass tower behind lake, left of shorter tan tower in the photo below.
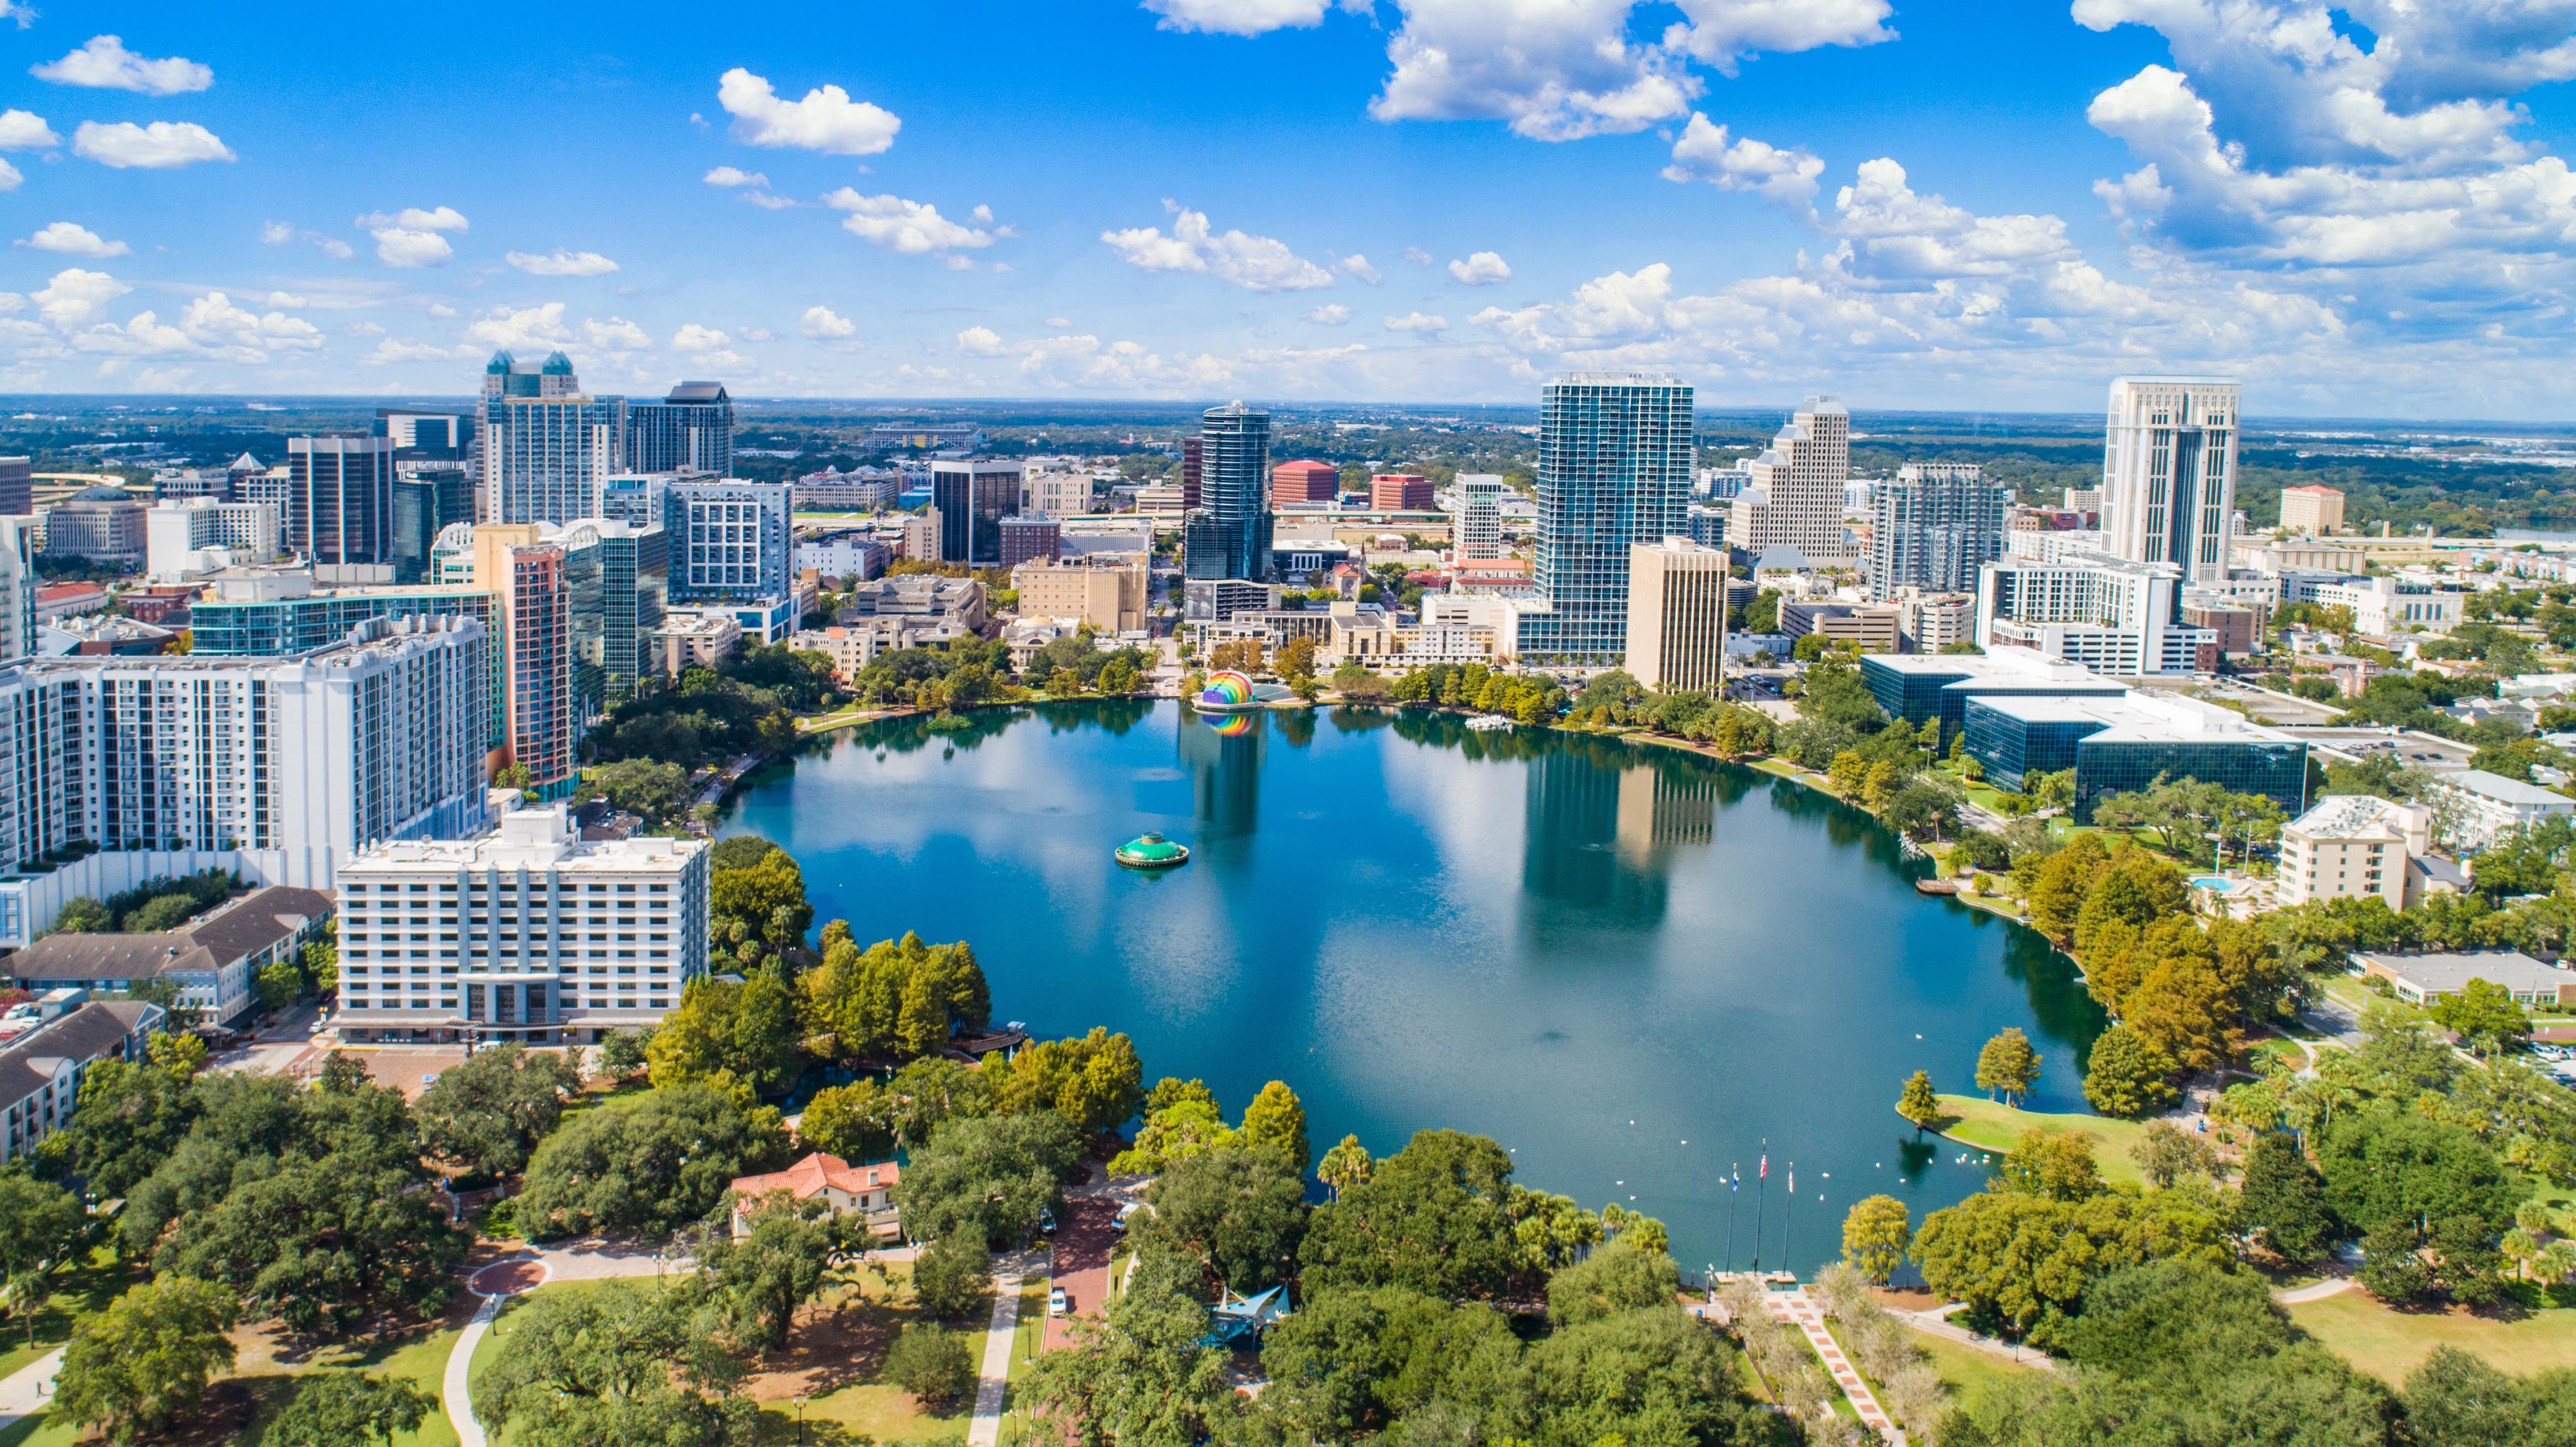
<svg viewBox="0 0 2576 1447">
<path fill-rule="evenodd" d="M 1517 654 L 1618 662 L 1628 651 L 1628 546 L 1690 536 L 1690 384 L 1574 371 L 1538 407 L 1538 608 Z"/>
</svg>

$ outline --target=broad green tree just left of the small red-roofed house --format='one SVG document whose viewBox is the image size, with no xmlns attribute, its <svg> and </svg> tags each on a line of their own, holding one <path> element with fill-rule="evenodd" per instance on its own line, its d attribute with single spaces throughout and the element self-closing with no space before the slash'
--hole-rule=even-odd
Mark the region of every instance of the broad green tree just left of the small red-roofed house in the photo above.
<svg viewBox="0 0 2576 1447">
<path fill-rule="evenodd" d="M 518 1223 L 531 1236 L 675 1231 L 737 1177 L 788 1164 L 778 1112 L 703 1084 L 654 1089 L 567 1120 L 528 1159 Z"/>
</svg>

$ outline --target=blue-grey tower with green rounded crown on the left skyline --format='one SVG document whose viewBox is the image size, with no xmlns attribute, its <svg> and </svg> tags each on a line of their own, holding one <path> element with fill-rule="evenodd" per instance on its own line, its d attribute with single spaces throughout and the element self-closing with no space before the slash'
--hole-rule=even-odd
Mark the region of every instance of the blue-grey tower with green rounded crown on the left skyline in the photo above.
<svg viewBox="0 0 2576 1447">
<path fill-rule="evenodd" d="M 600 515 L 600 489 L 626 469 L 626 399 L 585 397 L 564 353 L 536 371 L 510 353 L 484 366 L 482 518 L 572 523 Z"/>
</svg>

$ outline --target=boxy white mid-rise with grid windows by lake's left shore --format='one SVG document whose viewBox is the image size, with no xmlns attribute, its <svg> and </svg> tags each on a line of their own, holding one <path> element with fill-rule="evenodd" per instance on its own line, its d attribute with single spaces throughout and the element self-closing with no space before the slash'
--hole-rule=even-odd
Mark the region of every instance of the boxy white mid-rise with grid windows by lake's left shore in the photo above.
<svg viewBox="0 0 2576 1447">
<path fill-rule="evenodd" d="M 343 1040 L 595 1043 L 706 976 L 706 839 L 580 839 L 562 803 L 340 868 Z"/>
</svg>

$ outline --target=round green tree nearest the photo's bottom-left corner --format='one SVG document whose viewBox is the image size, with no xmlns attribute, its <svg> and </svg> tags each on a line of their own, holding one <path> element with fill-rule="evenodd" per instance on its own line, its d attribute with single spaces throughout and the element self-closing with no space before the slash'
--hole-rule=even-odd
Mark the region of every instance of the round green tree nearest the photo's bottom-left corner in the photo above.
<svg viewBox="0 0 2576 1447">
<path fill-rule="evenodd" d="M 196 1411 L 214 1372 L 232 1367 L 224 1331 L 240 1316 L 232 1293 L 188 1277 L 142 1282 L 72 1334 L 54 1377 L 54 1408 L 142 1442 Z"/>
</svg>

